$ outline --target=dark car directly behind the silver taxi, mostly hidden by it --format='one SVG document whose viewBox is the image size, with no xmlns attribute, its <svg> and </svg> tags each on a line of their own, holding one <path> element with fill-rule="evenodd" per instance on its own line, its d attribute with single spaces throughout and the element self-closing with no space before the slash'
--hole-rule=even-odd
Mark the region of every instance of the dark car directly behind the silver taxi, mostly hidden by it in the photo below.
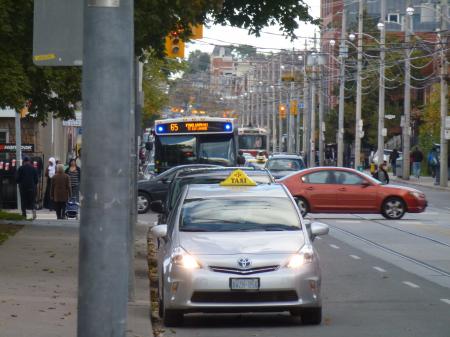
<svg viewBox="0 0 450 337">
<path fill-rule="evenodd" d="M 176 174 L 170 183 L 167 199 L 162 202 L 151 203 L 151 209 L 160 213 L 159 223 L 166 223 L 167 216 L 175 207 L 176 201 L 183 190 L 183 187 L 190 184 L 218 184 L 225 180 L 234 170 L 243 170 L 258 185 L 271 184 L 275 182 L 270 172 L 265 169 L 253 169 L 246 167 L 221 167 L 183 170 Z"/>
</svg>

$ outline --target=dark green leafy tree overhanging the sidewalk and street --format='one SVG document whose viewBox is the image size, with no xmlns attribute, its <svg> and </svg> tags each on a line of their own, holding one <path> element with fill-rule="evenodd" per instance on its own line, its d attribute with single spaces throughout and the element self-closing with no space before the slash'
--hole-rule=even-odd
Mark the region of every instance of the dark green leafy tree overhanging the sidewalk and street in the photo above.
<svg viewBox="0 0 450 337">
<path fill-rule="evenodd" d="M 193 24 L 229 24 L 254 35 L 279 24 L 295 38 L 299 21 L 318 22 L 302 0 L 136 0 L 134 15 L 135 52 L 141 60 L 149 49 L 162 59 L 165 36 L 180 30 L 188 38 Z M 0 108 L 20 111 L 27 104 L 42 122 L 50 112 L 72 118 L 73 106 L 81 100 L 81 69 L 36 67 L 32 46 L 33 1 L 0 0 Z"/>
</svg>

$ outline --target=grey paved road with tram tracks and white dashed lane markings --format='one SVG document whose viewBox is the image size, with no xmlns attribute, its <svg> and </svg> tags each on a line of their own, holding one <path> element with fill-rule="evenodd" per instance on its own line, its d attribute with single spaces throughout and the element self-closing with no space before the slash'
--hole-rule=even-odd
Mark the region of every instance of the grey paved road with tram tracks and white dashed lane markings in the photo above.
<svg viewBox="0 0 450 337">
<path fill-rule="evenodd" d="M 323 269 L 324 320 L 301 326 L 287 314 L 187 315 L 164 336 L 450 337 L 450 194 L 422 189 L 423 214 L 324 215 L 316 240 Z"/>
</svg>

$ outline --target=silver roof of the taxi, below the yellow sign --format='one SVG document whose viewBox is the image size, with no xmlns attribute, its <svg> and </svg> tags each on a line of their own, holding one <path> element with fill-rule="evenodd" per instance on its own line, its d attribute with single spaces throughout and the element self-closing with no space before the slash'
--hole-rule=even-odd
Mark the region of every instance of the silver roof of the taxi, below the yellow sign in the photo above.
<svg viewBox="0 0 450 337">
<path fill-rule="evenodd" d="M 186 199 L 222 197 L 267 197 L 286 198 L 288 194 L 281 184 L 257 186 L 220 186 L 217 184 L 188 185 Z"/>
</svg>

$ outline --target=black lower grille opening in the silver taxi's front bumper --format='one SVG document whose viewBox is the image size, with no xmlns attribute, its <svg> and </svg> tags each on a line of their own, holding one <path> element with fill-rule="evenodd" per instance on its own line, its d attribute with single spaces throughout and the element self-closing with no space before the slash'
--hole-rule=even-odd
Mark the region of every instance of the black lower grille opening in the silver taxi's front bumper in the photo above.
<svg viewBox="0 0 450 337">
<path fill-rule="evenodd" d="M 284 291 L 196 291 L 195 303 L 261 303 L 298 301 L 294 290 Z"/>
</svg>

